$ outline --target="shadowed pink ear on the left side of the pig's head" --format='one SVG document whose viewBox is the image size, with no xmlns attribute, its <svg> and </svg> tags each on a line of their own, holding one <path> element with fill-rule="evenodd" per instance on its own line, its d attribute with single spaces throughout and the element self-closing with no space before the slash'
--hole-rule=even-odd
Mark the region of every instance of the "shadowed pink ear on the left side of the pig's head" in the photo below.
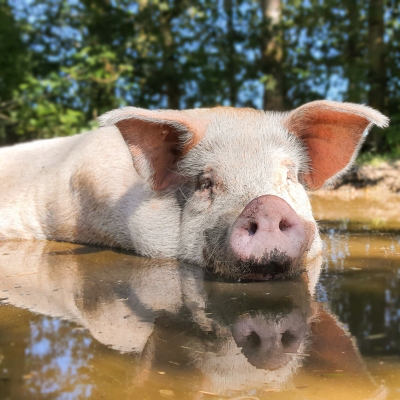
<svg viewBox="0 0 400 400">
<path fill-rule="evenodd" d="M 133 157 L 138 174 L 154 190 L 179 184 L 177 162 L 201 141 L 207 113 L 199 110 L 145 110 L 125 107 L 99 117 L 101 126 L 115 125 Z"/>
</svg>

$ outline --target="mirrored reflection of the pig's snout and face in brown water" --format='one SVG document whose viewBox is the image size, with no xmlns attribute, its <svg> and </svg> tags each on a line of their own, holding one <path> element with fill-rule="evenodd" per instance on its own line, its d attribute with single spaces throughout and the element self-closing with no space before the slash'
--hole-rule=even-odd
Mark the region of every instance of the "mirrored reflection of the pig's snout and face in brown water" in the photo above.
<svg viewBox="0 0 400 400">
<path fill-rule="evenodd" d="M 182 276 L 187 273 L 185 268 Z M 182 279 L 185 304 L 190 307 L 186 282 Z M 199 278 L 196 287 L 202 286 L 203 318 L 212 319 L 213 339 L 192 337 L 187 346 L 195 366 L 207 376 L 203 388 L 223 393 L 248 384 L 277 388 L 288 384 L 309 342 L 308 323 L 313 317 L 305 282 L 232 285 Z M 206 326 L 199 311 L 194 315 L 199 325 Z"/>
</svg>

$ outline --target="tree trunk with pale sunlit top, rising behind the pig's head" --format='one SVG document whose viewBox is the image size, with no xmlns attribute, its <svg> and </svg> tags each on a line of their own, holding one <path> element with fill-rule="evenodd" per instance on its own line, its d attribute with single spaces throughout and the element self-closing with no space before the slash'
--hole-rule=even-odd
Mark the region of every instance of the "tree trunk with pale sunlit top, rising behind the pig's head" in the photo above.
<svg viewBox="0 0 400 400">
<path fill-rule="evenodd" d="M 285 109 L 283 35 L 279 29 L 282 16 L 281 0 L 260 0 L 260 6 L 264 23 L 268 24 L 261 49 L 261 71 L 266 78 L 263 108 L 281 111 Z"/>
</svg>

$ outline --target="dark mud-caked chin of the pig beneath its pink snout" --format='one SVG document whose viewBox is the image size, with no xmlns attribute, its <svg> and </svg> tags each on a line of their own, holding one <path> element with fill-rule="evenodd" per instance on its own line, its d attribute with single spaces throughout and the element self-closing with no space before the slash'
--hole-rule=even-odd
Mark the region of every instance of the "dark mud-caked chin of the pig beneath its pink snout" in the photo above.
<svg viewBox="0 0 400 400">
<path fill-rule="evenodd" d="M 270 281 L 293 278 L 303 272 L 301 262 L 275 249 L 261 259 L 246 261 L 236 258 L 232 253 L 225 257 L 214 254 L 205 257 L 207 270 L 228 279 L 240 281 Z"/>
</svg>

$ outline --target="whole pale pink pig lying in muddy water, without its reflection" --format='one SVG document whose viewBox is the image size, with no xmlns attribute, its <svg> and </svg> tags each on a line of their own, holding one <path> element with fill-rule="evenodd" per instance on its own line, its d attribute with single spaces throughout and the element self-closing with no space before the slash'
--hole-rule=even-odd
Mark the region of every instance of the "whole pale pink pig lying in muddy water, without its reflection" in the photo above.
<svg viewBox="0 0 400 400">
<path fill-rule="evenodd" d="M 179 258 L 233 279 L 307 271 L 321 240 L 307 190 L 351 166 L 372 108 L 125 107 L 80 135 L 0 150 L 0 236 Z"/>
</svg>

